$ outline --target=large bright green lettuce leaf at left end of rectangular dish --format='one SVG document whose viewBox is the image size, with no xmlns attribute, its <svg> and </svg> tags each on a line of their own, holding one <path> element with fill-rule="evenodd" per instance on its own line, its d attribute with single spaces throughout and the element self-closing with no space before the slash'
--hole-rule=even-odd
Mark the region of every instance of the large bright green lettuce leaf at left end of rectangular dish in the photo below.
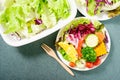
<svg viewBox="0 0 120 80">
<path fill-rule="evenodd" d="M 7 8 L 0 16 L 0 23 L 3 24 L 6 34 L 22 29 L 25 24 L 23 8 L 14 5 Z"/>
</svg>

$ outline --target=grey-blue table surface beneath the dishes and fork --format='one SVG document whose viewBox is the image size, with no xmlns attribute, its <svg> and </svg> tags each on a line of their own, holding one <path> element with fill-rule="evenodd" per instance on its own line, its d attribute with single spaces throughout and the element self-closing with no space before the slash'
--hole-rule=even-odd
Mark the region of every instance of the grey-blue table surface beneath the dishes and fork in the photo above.
<svg viewBox="0 0 120 80">
<path fill-rule="evenodd" d="M 111 50 L 98 68 L 86 72 L 72 70 L 72 77 L 49 57 L 40 45 L 46 43 L 55 49 L 58 31 L 17 48 L 7 45 L 0 36 L 0 80 L 120 80 L 120 16 L 101 22 L 109 31 Z"/>
</svg>

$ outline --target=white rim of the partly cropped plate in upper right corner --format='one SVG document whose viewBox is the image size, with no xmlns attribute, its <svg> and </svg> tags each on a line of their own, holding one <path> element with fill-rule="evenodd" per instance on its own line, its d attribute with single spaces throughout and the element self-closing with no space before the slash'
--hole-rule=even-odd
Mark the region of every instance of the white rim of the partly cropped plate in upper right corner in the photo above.
<svg viewBox="0 0 120 80">
<path fill-rule="evenodd" d="M 83 0 L 84 1 L 84 0 Z M 112 17 L 108 17 L 108 12 L 101 12 L 100 14 L 94 15 L 94 16 L 90 16 L 87 11 L 86 11 L 86 7 L 84 5 L 81 5 L 77 2 L 77 0 L 75 0 L 76 6 L 78 8 L 78 10 L 86 17 L 91 18 L 91 19 L 96 19 L 96 20 L 108 20 L 111 19 Z"/>
</svg>

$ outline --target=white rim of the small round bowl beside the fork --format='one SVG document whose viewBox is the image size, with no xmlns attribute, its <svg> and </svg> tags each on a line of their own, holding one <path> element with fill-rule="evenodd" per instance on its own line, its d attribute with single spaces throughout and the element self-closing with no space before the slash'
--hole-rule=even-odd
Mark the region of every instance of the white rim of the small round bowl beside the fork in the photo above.
<svg viewBox="0 0 120 80">
<path fill-rule="evenodd" d="M 81 18 L 85 18 L 85 17 L 78 17 L 78 18 L 75 18 L 74 20 L 77 20 L 77 19 L 79 20 Z M 108 57 L 109 51 L 110 51 L 110 46 L 111 46 L 111 40 L 110 40 L 110 36 L 109 36 L 109 33 L 108 33 L 107 29 L 104 28 L 103 30 L 106 32 L 106 35 L 108 37 L 108 43 L 106 44 L 108 53 L 99 57 L 101 59 L 101 63 L 98 66 L 100 66 L 106 60 L 106 58 Z M 60 29 L 60 31 L 58 32 L 56 42 L 58 42 L 59 38 L 63 35 L 64 31 L 65 31 L 65 26 L 62 29 Z M 57 48 L 56 48 L 56 50 L 57 50 Z M 69 66 L 69 61 L 65 60 L 58 50 L 57 50 L 57 54 L 58 54 L 59 58 L 63 61 L 63 63 L 66 64 L 68 67 L 70 67 Z M 88 71 L 88 70 L 95 69 L 98 66 L 94 66 L 93 68 L 87 68 L 87 67 L 85 67 L 85 68 L 70 67 L 70 68 L 72 68 L 74 70 L 78 70 L 78 71 Z"/>
</svg>

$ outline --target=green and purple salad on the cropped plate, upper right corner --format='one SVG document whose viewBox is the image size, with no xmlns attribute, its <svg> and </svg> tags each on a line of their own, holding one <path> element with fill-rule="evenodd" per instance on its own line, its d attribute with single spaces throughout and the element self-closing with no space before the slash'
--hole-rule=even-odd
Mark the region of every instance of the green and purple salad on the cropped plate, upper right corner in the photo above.
<svg viewBox="0 0 120 80">
<path fill-rule="evenodd" d="M 120 15 L 120 0 L 76 0 L 78 4 L 85 6 L 90 16 L 107 12 L 108 17 Z M 115 10 L 115 11 L 113 11 Z M 112 14 L 111 14 L 112 12 Z"/>
</svg>

